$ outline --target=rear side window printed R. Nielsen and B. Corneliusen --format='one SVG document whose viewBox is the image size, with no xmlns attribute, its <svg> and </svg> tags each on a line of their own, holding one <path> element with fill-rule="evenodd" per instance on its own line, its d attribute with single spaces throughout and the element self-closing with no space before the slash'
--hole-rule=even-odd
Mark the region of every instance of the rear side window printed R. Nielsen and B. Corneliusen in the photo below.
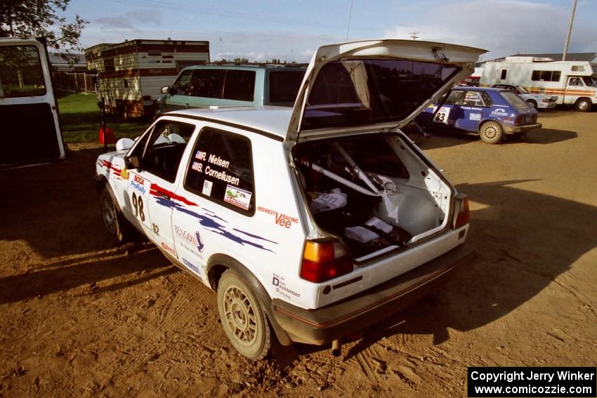
<svg viewBox="0 0 597 398">
<path fill-rule="evenodd" d="M 192 151 L 184 187 L 237 213 L 255 213 L 251 140 L 205 127 Z"/>
</svg>

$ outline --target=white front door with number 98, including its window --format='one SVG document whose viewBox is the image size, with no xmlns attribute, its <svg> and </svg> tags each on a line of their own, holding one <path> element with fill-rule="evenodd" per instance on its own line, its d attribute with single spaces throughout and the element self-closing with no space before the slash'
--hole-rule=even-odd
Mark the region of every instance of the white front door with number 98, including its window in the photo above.
<svg viewBox="0 0 597 398">
<path fill-rule="evenodd" d="M 131 215 L 147 237 L 174 258 L 171 215 L 173 204 L 181 200 L 174 194 L 178 166 L 195 128 L 192 122 L 158 119 L 131 154 L 139 163 L 130 171 L 127 187 Z"/>
</svg>

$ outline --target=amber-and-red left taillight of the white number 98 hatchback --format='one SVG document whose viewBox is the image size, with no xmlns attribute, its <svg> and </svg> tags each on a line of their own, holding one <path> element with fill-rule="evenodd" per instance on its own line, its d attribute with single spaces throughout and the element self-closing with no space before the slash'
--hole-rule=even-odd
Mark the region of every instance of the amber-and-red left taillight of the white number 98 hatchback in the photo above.
<svg viewBox="0 0 597 398">
<path fill-rule="evenodd" d="M 320 283 L 353 270 L 353 262 L 338 241 L 306 241 L 301 278 Z"/>
</svg>

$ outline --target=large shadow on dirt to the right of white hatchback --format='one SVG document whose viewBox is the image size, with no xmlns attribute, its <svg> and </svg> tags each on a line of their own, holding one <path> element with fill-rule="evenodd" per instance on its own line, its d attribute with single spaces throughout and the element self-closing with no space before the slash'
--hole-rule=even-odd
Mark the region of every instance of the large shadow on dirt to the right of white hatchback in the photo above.
<svg viewBox="0 0 597 398">
<path fill-rule="evenodd" d="M 536 296 L 597 246 L 596 207 L 518 189 L 516 184 L 523 182 L 459 185 L 460 192 L 480 204 L 471 211 L 467 238 L 477 252 L 473 264 L 432 296 L 365 329 L 359 343 L 343 352 L 343 361 L 384 337 L 431 334 L 439 344 L 450 338 L 448 328 L 471 331 L 490 324 Z M 537 216 L 538 211 L 544 216 Z M 326 349 L 298 345 L 296 352 Z"/>
</svg>

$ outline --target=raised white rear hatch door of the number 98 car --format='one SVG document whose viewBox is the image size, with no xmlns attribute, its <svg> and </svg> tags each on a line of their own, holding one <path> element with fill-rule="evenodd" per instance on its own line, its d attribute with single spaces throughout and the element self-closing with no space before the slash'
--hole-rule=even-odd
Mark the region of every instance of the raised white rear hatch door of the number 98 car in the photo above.
<svg viewBox="0 0 597 398">
<path fill-rule="evenodd" d="M 485 52 L 413 40 L 322 46 L 298 92 L 286 140 L 405 126 L 470 76 Z"/>
</svg>

